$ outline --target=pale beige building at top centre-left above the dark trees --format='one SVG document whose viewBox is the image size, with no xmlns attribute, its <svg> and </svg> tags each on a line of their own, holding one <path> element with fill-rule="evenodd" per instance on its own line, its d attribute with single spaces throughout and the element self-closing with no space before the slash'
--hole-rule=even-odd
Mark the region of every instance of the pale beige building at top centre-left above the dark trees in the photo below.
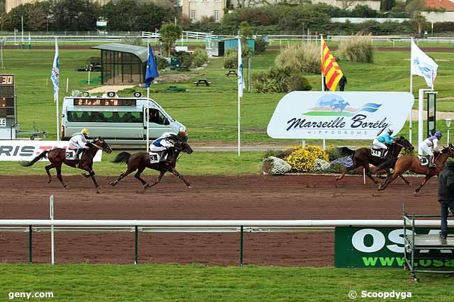
<svg viewBox="0 0 454 302">
<path fill-rule="evenodd" d="M 220 22 L 224 17 L 226 0 L 180 0 L 182 15 L 192 22 L 202 20 L 202 17 L 213 17 L 214 21 Z M 217 12 L 217 19 L 216 13 Z"/>
</svg>

